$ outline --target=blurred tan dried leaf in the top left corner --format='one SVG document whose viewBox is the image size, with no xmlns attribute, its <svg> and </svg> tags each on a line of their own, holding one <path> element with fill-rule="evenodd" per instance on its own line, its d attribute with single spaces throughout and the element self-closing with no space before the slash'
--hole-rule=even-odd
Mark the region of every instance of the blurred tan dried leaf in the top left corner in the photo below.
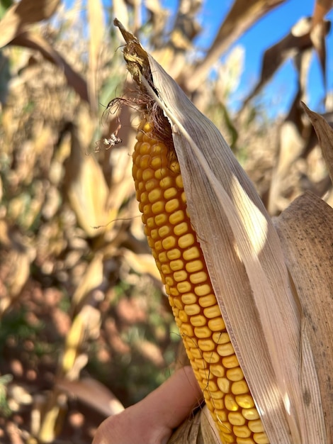
<svg viewBox="0 0 333 444">
<path fill-rule="evenodd" d="M 9 43 L 31 23 L 52 16 L 60 0 L 21 0 L 13 4 L 0 21 L 0 48 Z"/>
</svg>

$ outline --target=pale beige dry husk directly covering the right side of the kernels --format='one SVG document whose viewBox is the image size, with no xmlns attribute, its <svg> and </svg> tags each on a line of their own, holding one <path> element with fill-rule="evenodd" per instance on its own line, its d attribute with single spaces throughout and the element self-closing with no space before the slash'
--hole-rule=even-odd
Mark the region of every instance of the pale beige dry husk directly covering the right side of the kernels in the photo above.
<svg viewBox="0 0 333 444">
<path fill-rule="evenodd" d="M 191 222 L 266 433 L 271 443 L 321 444 L 320 396 L 312 392 L 309 400 L 303 392 L 316 372 L 314 359 L 310 348 L 303 354 L 301 310 L 276 229 L 218 129 L 115 24 L 128 43 L 133 78 L 169 118 Z"/>
</svg>

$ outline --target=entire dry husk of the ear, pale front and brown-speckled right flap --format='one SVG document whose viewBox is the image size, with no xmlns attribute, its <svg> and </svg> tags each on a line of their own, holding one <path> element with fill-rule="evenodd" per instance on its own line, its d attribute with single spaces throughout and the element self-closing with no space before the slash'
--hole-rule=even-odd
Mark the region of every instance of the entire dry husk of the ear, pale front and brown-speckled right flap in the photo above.
<svg viewBox="0 0 333 444">
<path fill-rule="evenodd" d="M 122 32 L 129 43 L 130 33 Z M 135 78 L 169 119 L 191 222 L 270 442 L 332 442 L 332 387 L 326 374 L 333 365 L 329 313 L 324 326 L 319 328 L 317 323 L 325 304 L 331 304 L 332 313 L 333 290 L 327 282 L 329 273 L 316 279 L 312 272 L 315 267 L 332 270 L 332 229 L 320 233 L 321 242 L 326 240 L 330 249 L 326 257 L 317 256 L 315 248 L 306 250 L 307 243 L 313 242 L 313 232 L 309 234 L 301 202 L 300 208 L 290 209 L 288 217 L 279 218 L 276 231 L 254 185 L 218 129 L 135 38 L 130 44 L 131 61 L 140 59 L 132 69 Z M 152 73 L 154 89 L 140 72 Z M 332 209 L 321 206 L 320 211 L 326 215 Z M 309 255 L 301 260 L 303 247 L 294 243 L 294 221 L 302 227 L 302 245 Z M 316 313 L 315 324 L 309 321 L 313 321 L 312 312 Z M 320 340 L 326 353 L 317 353 Z"/>
</svg>

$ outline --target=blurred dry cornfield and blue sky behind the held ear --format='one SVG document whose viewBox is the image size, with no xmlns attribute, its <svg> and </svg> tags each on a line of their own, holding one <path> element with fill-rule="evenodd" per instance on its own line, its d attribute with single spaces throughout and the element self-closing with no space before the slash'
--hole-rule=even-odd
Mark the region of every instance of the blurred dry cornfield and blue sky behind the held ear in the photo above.
<svg viewBox="0 0 333 444">
<path fill-rule="evenodd" d="M 225 136 L 271 216 L 332 205 L 332 1 L 0 1 L 0 443 L 91 443 L 169 377 L 179 333 L 131 177 L 117 17 Z M 103 143 L 121 122 L 122 143 Z"/>
</svg>

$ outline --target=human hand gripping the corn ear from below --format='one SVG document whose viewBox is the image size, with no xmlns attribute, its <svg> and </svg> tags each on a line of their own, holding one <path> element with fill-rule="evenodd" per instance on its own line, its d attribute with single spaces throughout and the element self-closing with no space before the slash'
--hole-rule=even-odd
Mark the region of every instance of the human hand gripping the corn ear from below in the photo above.
<svg viewBox="0 0 333 444">
<path fill-rule="evenodd" d="M 201 399 L 192 368 L 183 367 L 145 399 L 103 421 L 92 444 L 166 444 Z"/>
</svg>

